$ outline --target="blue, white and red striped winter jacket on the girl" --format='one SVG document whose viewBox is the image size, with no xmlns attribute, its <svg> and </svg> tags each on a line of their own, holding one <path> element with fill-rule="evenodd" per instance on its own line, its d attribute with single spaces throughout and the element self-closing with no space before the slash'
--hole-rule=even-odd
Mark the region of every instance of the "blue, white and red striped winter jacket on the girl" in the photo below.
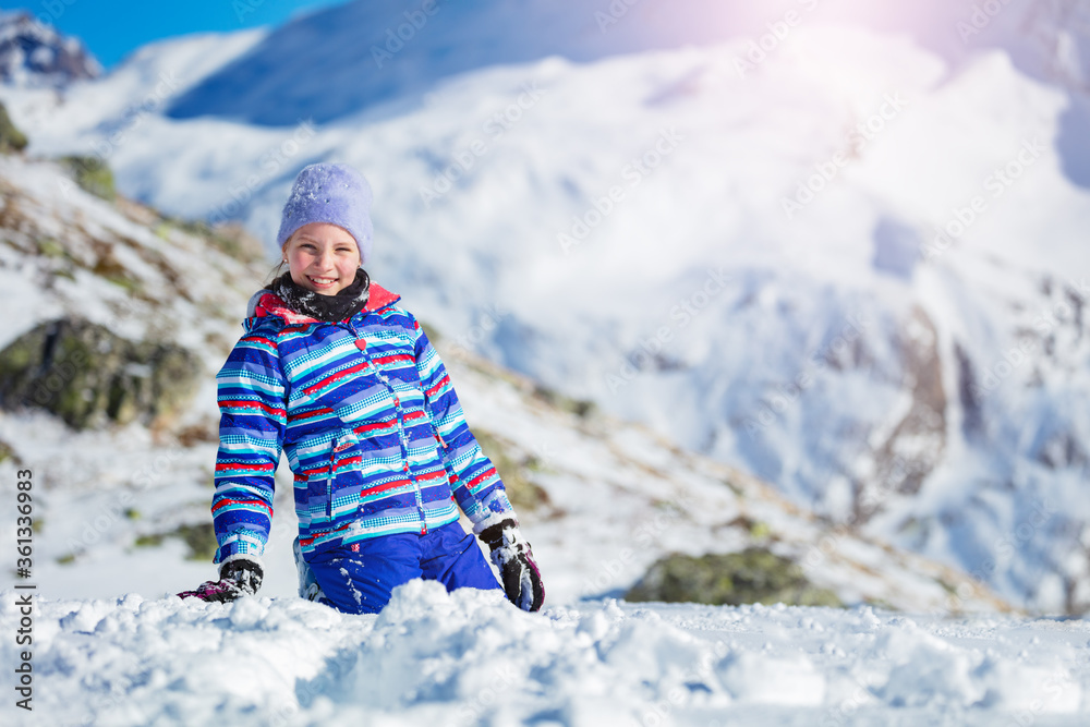
<svg viewBox="0 0 1090 727">
<path fill-rule="evenodd" d="M 294 473 L 304 554 L 511 512 L 446 369 L 400 298 L 377 284 L 364 311 L 322 323 L 268 291 L 217 375 L 215 562 L 261 557 L 281 449 Z"/>
</svg>

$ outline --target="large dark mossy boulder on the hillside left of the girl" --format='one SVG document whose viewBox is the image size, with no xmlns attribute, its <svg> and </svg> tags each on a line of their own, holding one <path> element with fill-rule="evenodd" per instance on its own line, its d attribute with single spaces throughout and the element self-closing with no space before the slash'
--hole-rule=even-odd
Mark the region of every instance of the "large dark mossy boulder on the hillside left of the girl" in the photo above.
<svg viewBox="0 0 1090 727">
<path fill-rule="evenodd" d="M 184 348 L 61 318 L 0 351 L 0 407 L 43 409 L 77 429 L 134 421 L 164 426 L 192 401 L 203 375 Z"/>
</svg>

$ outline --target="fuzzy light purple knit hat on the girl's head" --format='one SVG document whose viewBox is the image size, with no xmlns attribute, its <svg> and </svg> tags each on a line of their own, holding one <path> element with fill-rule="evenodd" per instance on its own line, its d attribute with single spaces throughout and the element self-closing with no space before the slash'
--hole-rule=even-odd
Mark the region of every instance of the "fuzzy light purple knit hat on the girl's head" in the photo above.
<svg viewBox="0 0 1090 727">
<path fill-rule="evenodd" d="M 329 222 L 348 230 L 360 247 L 360 264 L 371 257 L 371 185 L 348 165 L 304 167 L 291 185 L 280 217 L 280 247 L 295 230 L 311 222 Z"/>
</svg>

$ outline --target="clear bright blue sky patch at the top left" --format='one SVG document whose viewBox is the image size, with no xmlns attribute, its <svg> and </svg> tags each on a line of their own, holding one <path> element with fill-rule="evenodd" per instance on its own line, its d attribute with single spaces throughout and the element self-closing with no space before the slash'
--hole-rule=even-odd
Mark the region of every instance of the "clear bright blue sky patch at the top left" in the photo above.
<svg viewBox="0 0 1090 727">
<path fill-rule="evenodd" d="M 344 0 L 31 0 L 22 8 L 83 39 L 107 69 L 152 40 L 187 33 L 280 25 L 296 13 Z"/>
</svg>

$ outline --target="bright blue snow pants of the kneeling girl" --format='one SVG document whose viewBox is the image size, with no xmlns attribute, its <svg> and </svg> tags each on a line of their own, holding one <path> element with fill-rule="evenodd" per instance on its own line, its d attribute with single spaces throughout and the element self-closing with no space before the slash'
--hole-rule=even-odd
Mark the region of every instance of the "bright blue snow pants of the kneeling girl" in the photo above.
<svg viewBox="0 0 1090 727">
<path fill-rule="evenodd" d="M 390 592 L 415 578 L 455 589 L 502 590 L 476 538 L 457 523 L 432 532 L 395 533 L 358 541 L 306 561 L 322 586 L 318 603 L 347 614 L 377 614 Z"/>
</svg>

